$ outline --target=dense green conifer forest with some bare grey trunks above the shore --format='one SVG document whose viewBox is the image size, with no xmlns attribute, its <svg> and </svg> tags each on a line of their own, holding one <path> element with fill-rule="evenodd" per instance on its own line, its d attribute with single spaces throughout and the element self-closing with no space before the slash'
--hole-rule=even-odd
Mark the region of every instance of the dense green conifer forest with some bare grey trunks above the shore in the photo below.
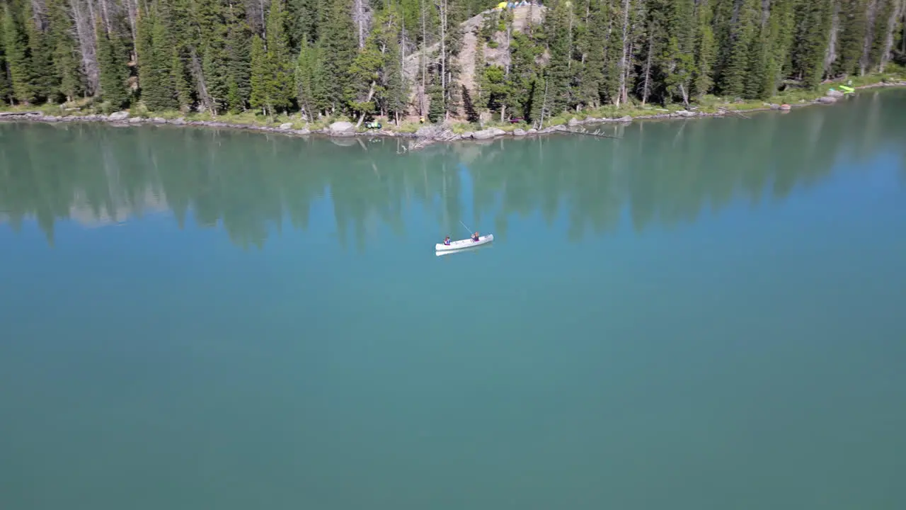
<svg viewBox="0 0 906 510">
<path fill-rule="evenodd" d="M 0 0 L 0 98 L 535 120 L 883 73 L 906 0 Z"/>
</svg>

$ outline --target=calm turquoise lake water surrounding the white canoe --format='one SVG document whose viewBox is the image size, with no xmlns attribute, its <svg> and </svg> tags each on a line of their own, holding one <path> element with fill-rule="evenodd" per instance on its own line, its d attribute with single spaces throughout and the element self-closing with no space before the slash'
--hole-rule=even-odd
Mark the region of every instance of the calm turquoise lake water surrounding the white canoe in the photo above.
<svg viewBox="0 0 906 510">
<path fill-rule="evenodd" d="M 0 123 L 0 508 L 906 508 L 903 119 Z"/>
</svg>

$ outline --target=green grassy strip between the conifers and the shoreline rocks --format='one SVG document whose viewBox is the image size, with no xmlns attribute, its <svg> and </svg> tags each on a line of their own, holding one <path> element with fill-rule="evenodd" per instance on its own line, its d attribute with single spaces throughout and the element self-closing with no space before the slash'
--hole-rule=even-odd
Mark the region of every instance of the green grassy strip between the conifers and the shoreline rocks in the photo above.
<svg viewBox="0 0 906 510">
<path fill-rule="evenodd" d="M 747 112 L 755 110 L 763 110 L 770 104 L 790 104 L 790 105 L 802 105 L 808 103 L 814 103 L 817 98 L 824 96 L 828 89 L 839 87 L 839 85 L 847 84 L 848 81 L 851 81 L 850 86 L 856 89 L 860 88 L 870 88 L 874 86 L 882 86 L 888 84 L 901 84 L 906 83 L 906 68 L 902 66 L 892 65 L 889 72 L 885 74 L 867 74 L 865 76 L 855 76 L 849 78 L 848 80 L 838 80 L 834 82 L 825 82 L 822 83 L 816 90 L 806 90 L 792 88 L 783 93 L 779 93 L 774 97 L 771 97 L 767 100 L 755 100 L 755 101 L 744 101 L 744 100 L 730 100 L 728 98 L 721 98 L 713 95 L 706 95 L 702 97 L 698 102 L 692 103 L 689 107 L 685 107 L 682 104 L 647 104 L 641 105 L 639 103 L 629 103 L 623 105 L 620 108 L 613 106 L 604 106 L 602 108 L 597 108 L 593 110 L 584 110 L 582 112 L 576 113 L 561 113 L 555 115 L 550 119 L 545 119 L 544 126 L 545 128 L 557 125 L 565 125 L 570 123 L 573 119 L 579 122 L 583 122 L 588 119 L 617 119 L 623 117 L 631 118 L 648 118 L 656 115 L 665 115 L 670 113 L 676 113 L 683 110 L 691 110 L 698 113 L 718 113 L 720 110 L 735 111 L 735 112 Z M 55 117 L 68 117 L 68 116 L 85 116 L 85 115 L 95 115 L 95 114 L 107 114 L 111 113 L 111 108 L 109 104 L 104 103 L 92 103 L 92 100 L 85 99 L 77 103 L 68 103 L 68 104 L 42 104 L 42 105 L 19 105 L 19 106 L 6 106 L 0 108 L 0 112 L 40 112 L 43 115 L 55 116 Z M 254 112 L 244 112 L 244 113 L 223 113 L 217 116 L 213 116 L 209 113 L 185 113 L 179 111 L 166 111 L 166 112 L 150 112 L 144 105 L 139 104 L 134 106 L 129 111 L 130 117 L 143 117 L 147 119 L 152 118 L 162 118 L 168 121 L 183 119 L 188 122 L 217 122 L 217 123 L 227 123 L 233 124 L 236 126 L 255 126 L 255 127 L 270 127 L 277 128 L 283 124 L 289 123 L 292 124 L 293 130 L 302 130 L 308 129 L 312 132 L 319 132 L 325 130 L 327 126 L 331 123 L 338 121 L 350 121 L 355 122 L 354 119 L 348 119 L 345 117 L 333 117 L 333 118 L 324 118 L 319 119 L 318 121 L 308 122 L 304 121 L 298 114 L 280 114 L 274 116 L 265 116 L 260 113 Z M 422 123 L 416 122 L 404 122 L 400 126 L 396 126 L 394 123 L 388 123 L 383 119 L 380 119 L 383 127 L 382 131 L 384 132 L 394 132 L 394 133 L 412 133 L 418 131 L 419 127 L 422 127 Z M 464 132 L 475 132 L 481 129 L 487 129 L 490 127 L 496 127 L 506 132 L 512 132 L 516 129 L 529 129 L 530 125 L 526 123 L 508 123 L 500 121 L 491 121 L 483 123 L 482 125 L 474 123 L 464 123 L 464 122 L 453 122 L 448 123 L 448 128 L 456 133 L 462 134 Z M 359 132 L 368 132 L 369 130 L 365 129 L 363 126 L 359 129 Z"/>
</svg>

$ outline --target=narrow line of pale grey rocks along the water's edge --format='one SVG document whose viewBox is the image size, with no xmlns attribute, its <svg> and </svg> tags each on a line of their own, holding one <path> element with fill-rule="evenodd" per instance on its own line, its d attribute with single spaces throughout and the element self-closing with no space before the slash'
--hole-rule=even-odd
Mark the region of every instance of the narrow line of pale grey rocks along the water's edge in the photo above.
<svg viewBox="0 0 906 510">
<path fill-rule="evenodd" d="M 871 85 L 864 85 L 861 87 L 855 87 L 858 90 L 877 88 L 877 87 L 897 87 L 897 86 L 906 86 L 906 82 L 882 82 L 874 83 Z M 395 137 L 395 138 L 409 138 L 414 139 L 416 142 L 414 146 L 410 147 L 410 150 L 416 150 L 421 147 L 427 146 L 433 142 L 456 142 L 459 140 L 490 140 L 501 136 L 513 136 L 516 138 L 521 138 L 525 136 L 539 135 L 539 134 L 548 134 L 554 132 L 571 132 L 569 128 L 581 126 L 583 124 L 604 124 L 604 123 L 631 123 L 632 121 L 641 121 L 641 120 L 664 120 L 664 119 L 689 119 L 689 118 L 701 118 L 701 117 L 725 117 L 727 115 L 741 115 L 744 113 L 753 113 L 753 112 L 765 112 L 771 110 L 790 110 L 793 107 L 806 106 L 809 104 L 831 104 L 835 103 L 839 97 L 842 97 L 843 93 L 838 91 L 828 91 L 828 93 L 822 97 L 814 99 L 812 102 L 801 102 L 796 103 L 795 105 L 789 104 L 770 104 L 765 103 L 761 108 L 748 108 L 745 110 L 726 110 L 718 109 L 717 113 L 706 113 L 698 112 L 695 109 L 690 110 L 679 110 L 677 112 L 670 113 L 655 113 L 651 115 L 639 115 L 639 116 L 629 116 L 625 115 L 620 118 L 596 118 L 596 117 L 587 117 L 583 120 L 570 119 L 567 124 L 558 124 L 554 126 L 546 127 L 542 130 L 522 130 L 516 129 L 510 132 L 504 131 L 502 129 L 492 127 L 476 132 L 462 132 L 455 133 L 450 130 L 447 126 L 443 125 L 427 125 L 419 128 L 417 132 L 394 132 L 389 130 L 380 130 L 380 131 L 367 131 L 367 132 L 356 132 L 355 124 L 347 122 L 338 122 L 332 123 L 330 126 L 323 130 L 309 130 L 304 129 L 293 129 L 292 123 L 284 123 L 279 127 L 270 127 L 270 126 L 261 126 L 255 124 L 240 124 L 240 123 L 223 123 L 218 121 L 188 121 L 185 118 L 178 119 L 164 119 L 162 117 L 130 117 L 129 112 L 117 112 L 111 113 L 110 115 L 103 114 L 92 114 L 92 115 L 44 115 L 40 112 L 4 112 L 0 113 L 0 122 L 2 121 L 14 121 L 14 122 L 39 122 L 39 123 L 109 123 L 112 125 L 119 126 L 130 126 L 130 125 L 142 125 L 142 124 L 168 124 L 168 125 L 178 125 L 178 126 L 199 126 L 207 128 L 227 128 L 227 129 L 238 129 L 246 131 L 256 131 L 256 132 L 274 132 L 291 136 L 306 136 L 311 134 L 320 134 L 329 137 L 351 137 L 351 136 L 365 136 L 365 137 Z"/>
</svg>

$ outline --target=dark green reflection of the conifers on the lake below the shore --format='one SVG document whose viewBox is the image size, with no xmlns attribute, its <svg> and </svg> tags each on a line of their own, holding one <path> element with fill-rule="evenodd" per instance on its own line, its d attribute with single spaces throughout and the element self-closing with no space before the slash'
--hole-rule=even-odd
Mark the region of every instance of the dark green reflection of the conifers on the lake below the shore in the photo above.
<svg viewBox="0 0 906 510">
<path fill-rule="evenodd" d="M 903 162 L 906 182 L 902 111 L 906 94 L 885 91 L 751 120 L 604 126 L 619 141 L 557 135 L 403 155 L 405 141 L 394 139 L 10 123 L 0 126 L 0 220 L 17 230 L 34 218 L 53 244 L 58 220 L 104 224 L 171 211 L 180 227 L 191 216 L 260 248 L 286 221 L 306 230 L 313 203 L 330 199 L 338 240 L 352 237 L 357 250 L 378 224 L 404 235 L 413 208 L 438 232 L 493 223 L 506 240 L 509 222 L 540 214 L 548 225 L 565 218 L 569 238 L 581 240 L 616 230 L 627 213 L 641 231 L 737 201 L 783 201 L 838 163 L 858 169 L 884 151 Z"/>
</svg>

